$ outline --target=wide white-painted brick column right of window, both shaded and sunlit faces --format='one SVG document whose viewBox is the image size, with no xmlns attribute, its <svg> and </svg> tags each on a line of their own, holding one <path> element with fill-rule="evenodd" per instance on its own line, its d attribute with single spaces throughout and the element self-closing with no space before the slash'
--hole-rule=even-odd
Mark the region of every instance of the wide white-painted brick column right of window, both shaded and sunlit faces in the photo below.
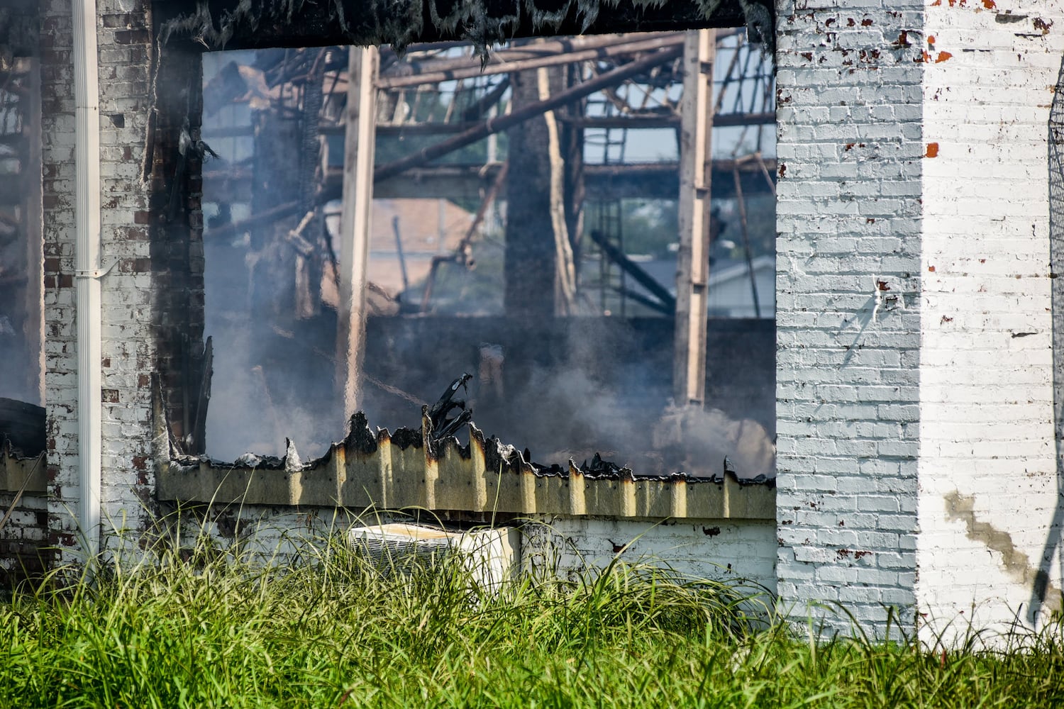
<svg viewBox="0 0 1064 709">
<path fill-rule="evenodd" d="M 1064 19 L 1048 1 L 833 4 L 777 3 L 780 594 L 872 630 L 883 606 L 910 628 L 963 629 L 972 605 L 980 626 L 1020 603 L 1032 622 L 1059 607 L 1046 135 Z"/>
</svg>

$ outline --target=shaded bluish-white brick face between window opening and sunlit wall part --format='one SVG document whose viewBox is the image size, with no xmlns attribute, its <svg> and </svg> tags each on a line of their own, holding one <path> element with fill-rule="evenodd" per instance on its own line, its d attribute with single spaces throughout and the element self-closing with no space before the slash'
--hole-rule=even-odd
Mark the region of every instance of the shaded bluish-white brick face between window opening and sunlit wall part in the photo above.
<svg viewBox="0 0 1064 709">
<path fill-rule="evenodd" d="M 915 601 L 924 4 L 777 2 L 778 586 L 871 629 Z"/>
</svg>

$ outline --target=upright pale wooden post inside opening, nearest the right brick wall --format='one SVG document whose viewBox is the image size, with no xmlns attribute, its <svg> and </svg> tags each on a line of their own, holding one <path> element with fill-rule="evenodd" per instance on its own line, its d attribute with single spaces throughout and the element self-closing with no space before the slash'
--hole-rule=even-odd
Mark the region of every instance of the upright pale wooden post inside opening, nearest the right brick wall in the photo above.
<svg viewBox="0 0 1064 709">
<path fill-rule="evenodd" d="M 680 250 L 677 257 L 676 349 L 672 361 L 672 393 L 680 405 L 702 404 L 705 399 L 715 58 L 715 30 L 686 33 L 680 126 Z"/>
</svg>

